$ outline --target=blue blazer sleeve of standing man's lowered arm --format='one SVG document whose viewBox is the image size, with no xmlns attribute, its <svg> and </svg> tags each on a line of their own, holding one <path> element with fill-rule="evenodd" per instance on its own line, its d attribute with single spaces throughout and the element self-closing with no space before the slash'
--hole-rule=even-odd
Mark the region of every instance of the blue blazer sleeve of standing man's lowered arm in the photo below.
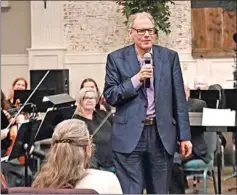
<svg viewBox="0 0 237 195">
<path fill-rule="evenodd" d="M 174 116 L 177 121 L 179 141 L 191 140 L 188 105 L 178 53 L 175 53 L 173 62 L 173 96 Z"/>
</svg>

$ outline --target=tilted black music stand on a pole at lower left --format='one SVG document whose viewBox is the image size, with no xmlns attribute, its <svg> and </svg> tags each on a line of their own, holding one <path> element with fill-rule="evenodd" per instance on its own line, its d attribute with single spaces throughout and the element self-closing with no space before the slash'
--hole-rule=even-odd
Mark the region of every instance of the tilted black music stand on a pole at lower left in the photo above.
<svg viewBox="0 0 237 195">
<path fill-rule="evenodd" d="M 7 161 L 10 161 L 12 159 L 18 158 L 20 156 L 25 157 L 25 186 L 27 187 L 29 185 L 28 180 L 28 160 L 29 160 L 29 153 L 30 149 L 33 145 L 33 138 L 35 136 L 35 133 L 40 125 L 41 121 L 36 120 L 30 120 L 25 121 L 21 124 L 18 132 L 17 137 L 14 143 L 14 146 L 12 147 L 12 150 L 9 154 L 9 157 Z"/>
</svg>

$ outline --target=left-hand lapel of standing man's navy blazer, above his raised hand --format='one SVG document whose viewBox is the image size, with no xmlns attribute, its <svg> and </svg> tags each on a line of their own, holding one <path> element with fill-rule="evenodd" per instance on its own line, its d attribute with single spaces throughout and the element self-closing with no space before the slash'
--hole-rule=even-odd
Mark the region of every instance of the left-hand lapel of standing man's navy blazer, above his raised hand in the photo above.
<svg viewBox="0 0 237 195">
<path fill-rule="evenodd" d="M 128 57 L 125 58 L 126 59 L 126 62 L 130 68 L 130 71 L 131 71 L 131 75 L 135 75 L 139 72 L 140 70 L 140 64 L 139 64 L 139 61 L 137 59 L 137 54 L 136 54 L 136 50 L 135 50 L 135 45 L 131 45 L 130 47 L 128 47 L 128 53 L 125 54 L 127 55 Z M 145 95 L 145 97 L 147 96 L 146 94 L 146 90 L 145 88 L 143 87 L 143 85 L 141 86 L 140 88 L 143 92 L 143 94 Z"/>
</svg>

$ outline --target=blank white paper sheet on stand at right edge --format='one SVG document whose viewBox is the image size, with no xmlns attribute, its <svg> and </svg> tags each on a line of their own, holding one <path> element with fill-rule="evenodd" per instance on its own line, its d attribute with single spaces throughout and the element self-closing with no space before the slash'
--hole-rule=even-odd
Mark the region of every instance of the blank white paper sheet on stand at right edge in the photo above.
<svg viewBox="0 0 237 195">
<path fill-rule="evenodd" d="M 235 126 L 236 111 L 230 109 L 203 108 L 203 126 Z"/>
</svg>

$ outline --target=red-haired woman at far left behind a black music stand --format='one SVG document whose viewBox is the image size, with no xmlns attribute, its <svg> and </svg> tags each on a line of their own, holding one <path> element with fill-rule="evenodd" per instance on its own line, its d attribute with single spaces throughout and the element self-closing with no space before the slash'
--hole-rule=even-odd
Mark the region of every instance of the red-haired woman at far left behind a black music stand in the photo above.
<svg viewBox="0 0 237 195">
<path fill-rule="evenodd" d="M 20 100 L 13 102 L 14 91 L 15 90 L 27 90 L 27 87 L 28 87 L 28 83 L 27 83 L 26 79 L 24 79 L 23 77 L 18 77 L 13 81 L 12 88 L 11 88 L 11 91 L 8 96 L 8 100 L 12 104 L 12 106 L 19 107 L 19 105 L 20 105 Z"/>
</svg>

